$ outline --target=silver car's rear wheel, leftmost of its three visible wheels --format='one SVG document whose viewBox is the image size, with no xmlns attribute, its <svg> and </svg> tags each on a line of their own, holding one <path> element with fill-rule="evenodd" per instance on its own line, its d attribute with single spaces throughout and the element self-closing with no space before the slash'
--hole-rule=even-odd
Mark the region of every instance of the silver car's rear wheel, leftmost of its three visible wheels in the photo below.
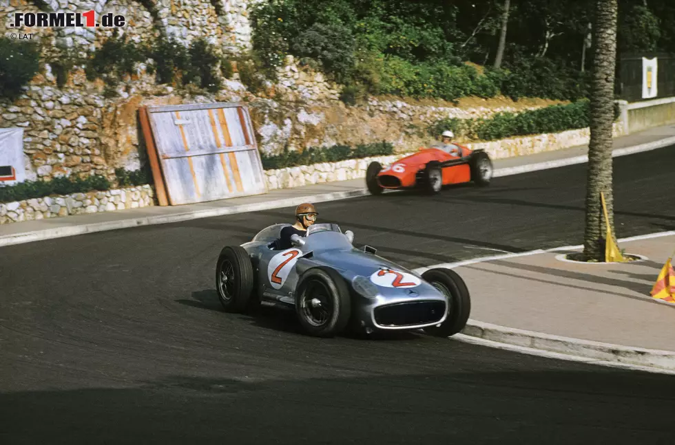
<svg viewBox="0 0 675 445">
<path fill-rule="evenodd" d="M 241 246 L 226 246 L 216 263 L 216 290 L 227 312 L 244 312 L 253 293 L 253 265 Z"/>
</svg>

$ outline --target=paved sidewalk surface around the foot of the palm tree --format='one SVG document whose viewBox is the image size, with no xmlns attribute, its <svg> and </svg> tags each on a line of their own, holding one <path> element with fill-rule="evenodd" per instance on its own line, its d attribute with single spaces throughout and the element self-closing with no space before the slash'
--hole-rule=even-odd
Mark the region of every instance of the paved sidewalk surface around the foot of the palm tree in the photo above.
<svg viewBox="0 0 675 445">
<path fill-rule="evenodd" d="M 556 336 L 675 354 L 675 304 L 652 299 L 675 234 L 619 242 L 630 263 L 578 263 L 557 250 L 486 261 L 455 270 L 472 295 L 471 318 Z"/>
</svg>

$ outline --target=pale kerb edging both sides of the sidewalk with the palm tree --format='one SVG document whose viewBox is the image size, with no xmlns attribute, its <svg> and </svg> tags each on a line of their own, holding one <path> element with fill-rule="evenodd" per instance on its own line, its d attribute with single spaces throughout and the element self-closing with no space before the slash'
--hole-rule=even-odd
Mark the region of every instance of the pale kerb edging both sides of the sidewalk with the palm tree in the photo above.
<svg viewBox="0 0 675 445">
<path fill-rule="evenodd" d="M 639 241 L 641 239 L 653 239 L 675 235 L 675 230 L 669 232 L 656 232 L 648 235 L 617 239 L 617 242 Z M 415 272 L 422 273 L 430 268 L 458 268 L 462 265 L 484 263 L 497 259 L 511 259 L 526 255 L 555 253 L 565 250 L 577 250 L 583 246 L 564 246 L 546 250 L 532 250 L 513 254 L 481 257 L 457 263 L 444 263 L 425 268 L 417 268 Z M 663 303 L 669 304 L 669 303 Z M 466 343 L 475 343 L 488 347 L 500 347 L 524 354 L 551 356 L 563 360 L 590 362 L 596 365 L 619 366 L 627 369 L 636 369 L 650 372 L 665 372 L 675 374 L 675 351 L 663 351 L 659 349 L 645 349 L 625 345 L 612 345 L 580 338 L 555 336 L 543 332 L 527 331 L 512 327 L 494 325 L 482 321 L 472 320 L 457 336 L 450 337 L 454 340 Z M 540 354 L 539 352 L 543 354 Z"/>
</svg>

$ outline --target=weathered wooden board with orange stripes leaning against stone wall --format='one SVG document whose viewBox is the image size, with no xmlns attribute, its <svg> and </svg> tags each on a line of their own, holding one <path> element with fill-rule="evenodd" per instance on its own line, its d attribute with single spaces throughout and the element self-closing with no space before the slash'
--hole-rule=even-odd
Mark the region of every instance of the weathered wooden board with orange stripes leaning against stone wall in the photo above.
<svg viewBox="0 0 675 445">
<path fill-rule="evenodd" d="M 172 206 L 267 193 L 244 104 L 147 107 L 147 115 Z"/>
</svg>

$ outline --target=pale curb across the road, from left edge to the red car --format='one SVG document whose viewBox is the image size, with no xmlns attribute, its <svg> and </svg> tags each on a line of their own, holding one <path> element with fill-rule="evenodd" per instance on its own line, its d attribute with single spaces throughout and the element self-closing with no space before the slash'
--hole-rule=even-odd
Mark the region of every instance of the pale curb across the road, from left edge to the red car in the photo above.
<svg viewBox="0 0 675 445">
<path fill-rule="evenodd" d="M 258 210 L 269 210 L 272 208 L 283 208 L 297 206 L 303 202 L 324 202 L 337 199 L 349 199 L 367 195 L 368 191 L 353 190 L 344 192 L 322 193 L 320 195 L 307 195 L 293 198 L 276 199 L 274 201 L 264 201 L 253 204 L 241 204 L 239 206 L 209 208 L 207 210 L 196 210 L 194 212 L 178 213 L 174 215 L 158 215 L 152 217 L 121 219 L 120 221 L 106 221 L 94 224 L 83 224 L 80 226 L 66 226 L 45 230 L 34 230 L 32 232 L 17 233 L 15 235 L 5 235 L 0 237 L 0 247 L 12 246 L 14 244 L 30 243 L 33 241 L 43 241 L 46 239 L 72 237 L 74 235 L 84 235 L 86 233 L 103 232 L 106 230 L 118 230 L 123 228 L 151 226 L 154 224 L 169 224 L 180 221 L 189 221 L 190 219 L 200 219 L 217 217 L 222 215 L 231 215 L 234 213 L 256 212 Z"/>
</svg>

